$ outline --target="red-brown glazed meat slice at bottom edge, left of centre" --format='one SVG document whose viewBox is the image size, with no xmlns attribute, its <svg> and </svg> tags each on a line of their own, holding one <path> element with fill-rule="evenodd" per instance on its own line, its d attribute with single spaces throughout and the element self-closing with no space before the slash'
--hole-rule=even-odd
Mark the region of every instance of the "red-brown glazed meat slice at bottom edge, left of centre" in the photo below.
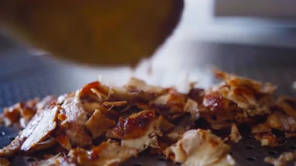
<svg viewBox="0 0 296 166">
<path fill-rule="evenodd" d="M 136 149 L 120 146 L 118 142 L 111 140 L 103 142 L 89 151 L 76 148 L 69 152 L 72 162 L 84 166 L 118 166 L 136 155 Z"/>
</svg>

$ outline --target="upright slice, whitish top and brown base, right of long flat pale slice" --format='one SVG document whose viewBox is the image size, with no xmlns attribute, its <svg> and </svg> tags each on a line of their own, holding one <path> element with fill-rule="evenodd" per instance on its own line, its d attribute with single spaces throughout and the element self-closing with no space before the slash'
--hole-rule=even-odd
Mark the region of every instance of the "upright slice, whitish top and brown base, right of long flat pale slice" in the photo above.
<svg viewBox="0 0 296 166">
<path fill-rule="evenodd" d="M 91 145 L 92 137 L 86 130 L 85 123 L 87 113 L 84 111 L 82 103 L 76 97 L 69 98 L 62 104 L 63 113 L 66 119 L 61 122 L 60 128 L 70 139 L 73 147 L 85 147 Z"/>
</svg>

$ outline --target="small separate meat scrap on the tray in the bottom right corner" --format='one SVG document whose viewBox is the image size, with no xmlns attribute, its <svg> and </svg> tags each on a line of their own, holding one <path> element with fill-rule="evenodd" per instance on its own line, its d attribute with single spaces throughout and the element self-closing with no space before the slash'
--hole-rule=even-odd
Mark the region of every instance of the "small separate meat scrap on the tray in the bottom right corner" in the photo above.
<svg viewBox="0 0 296 166">
<path fill-rule="evenodd" d="M 284 152 L 277 158 L 266 157 L 264 160 L 265 162 L 273 164 L 274 166 L 286 166 L 289 161 L 295 161 L 295 159 L 295 152 Z"/>
</svg>

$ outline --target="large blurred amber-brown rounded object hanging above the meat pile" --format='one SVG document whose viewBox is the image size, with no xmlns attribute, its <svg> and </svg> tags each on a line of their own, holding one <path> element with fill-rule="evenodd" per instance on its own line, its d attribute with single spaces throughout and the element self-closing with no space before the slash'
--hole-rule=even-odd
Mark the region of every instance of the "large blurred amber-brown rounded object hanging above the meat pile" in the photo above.
<svg viewBox="0 0 296 166">
<path fill-rule="evenodd" d="M 177 25 L 183 0 L 5 0 L 0 25 L 64 59 L 133 65 Z"/>
</svg>

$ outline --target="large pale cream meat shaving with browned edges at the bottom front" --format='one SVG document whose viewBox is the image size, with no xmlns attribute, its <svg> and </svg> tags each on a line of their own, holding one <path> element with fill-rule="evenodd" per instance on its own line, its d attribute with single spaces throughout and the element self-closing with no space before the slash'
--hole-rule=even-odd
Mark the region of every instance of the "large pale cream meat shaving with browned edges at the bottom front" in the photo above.
<svg viewBox="0 0 296 166">
<path fill-rule="evenodd" d="M 182 166 L 233 166 L 230 147 L 210 131 L 189 130 L 165 155 Z"/>
</svg>

